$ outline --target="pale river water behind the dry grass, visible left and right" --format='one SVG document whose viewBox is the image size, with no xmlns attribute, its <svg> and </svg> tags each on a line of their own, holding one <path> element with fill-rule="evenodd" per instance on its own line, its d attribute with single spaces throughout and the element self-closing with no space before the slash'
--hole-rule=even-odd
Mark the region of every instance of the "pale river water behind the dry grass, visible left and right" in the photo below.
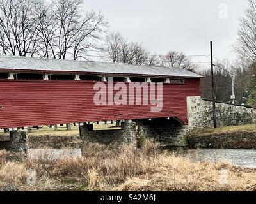
<svg viewBox="0 0 256 204">
<path fill-rule="evenodd" d="M 31 159 L 81 157 L 81 149 L 30 149 Z M 256 149 L 182 149 L 179 155 L 191 161 L 228 161 L 234 166 L 256 168 Z"/>
</svg>

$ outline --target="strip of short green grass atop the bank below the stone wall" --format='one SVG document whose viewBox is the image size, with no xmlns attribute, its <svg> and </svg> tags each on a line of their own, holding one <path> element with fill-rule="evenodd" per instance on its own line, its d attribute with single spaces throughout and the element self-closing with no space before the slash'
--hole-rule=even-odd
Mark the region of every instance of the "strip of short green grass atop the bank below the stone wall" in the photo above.
<svg viewBox="0 0 256 204">
<path fill-rule="evenodd" d="M 221 128 L 212 128 L 196 133 L 196 135 L 209 135 L 215 133 L 226 133 L 226 132 L 236 132 L 236 131 L 256 131 L 256 124 L 248 124 L 243 126 L 225 126 Z"/>
</svg>

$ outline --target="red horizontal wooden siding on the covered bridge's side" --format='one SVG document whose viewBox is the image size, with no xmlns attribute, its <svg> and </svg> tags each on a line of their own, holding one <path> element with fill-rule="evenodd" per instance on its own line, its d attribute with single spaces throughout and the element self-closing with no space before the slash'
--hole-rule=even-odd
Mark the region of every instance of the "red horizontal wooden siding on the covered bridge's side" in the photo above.
<svg viewBox="0 0 256 204">
<path fill-rule="evenodd" d="M 196 80 L 187 82 L 164 84 L 163 110 L 150 112 L 151 105 L 95 105 L 95 82 L 0 80 L 0 128 L 157 117 L 186 123 L 186 96 L 199 93 Z"/>
</svg>

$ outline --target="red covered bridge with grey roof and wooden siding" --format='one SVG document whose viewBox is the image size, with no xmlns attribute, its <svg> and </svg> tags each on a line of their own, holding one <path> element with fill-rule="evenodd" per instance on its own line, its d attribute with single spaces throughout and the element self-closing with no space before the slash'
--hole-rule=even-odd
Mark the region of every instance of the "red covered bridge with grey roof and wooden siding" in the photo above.
<svg viewBox="0 0 256 204">
<path fill-rule="evenodd" d="M 108 87 L 109 77 L 114 85 L 163 82 L 163 108 L 95 105 L 93 86 Z M 200 77 L 180 68 L 1 56 L 0 128 L 168 117 L 186 124 L 186 98 L 200 96 Z"/>
</svg>

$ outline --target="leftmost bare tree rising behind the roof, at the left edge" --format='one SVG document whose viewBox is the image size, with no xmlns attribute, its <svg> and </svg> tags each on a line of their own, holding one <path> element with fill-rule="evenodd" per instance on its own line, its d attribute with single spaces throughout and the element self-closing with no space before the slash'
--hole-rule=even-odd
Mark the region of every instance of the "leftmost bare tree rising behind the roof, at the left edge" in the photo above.
<svg viewBox="0 0 256 204">
<path fill-rule="evenodd" d="M 38 32 L 30 0 L 0 1 L 0 47 L 5 55 L 33 55 Z"/>
</svg>

